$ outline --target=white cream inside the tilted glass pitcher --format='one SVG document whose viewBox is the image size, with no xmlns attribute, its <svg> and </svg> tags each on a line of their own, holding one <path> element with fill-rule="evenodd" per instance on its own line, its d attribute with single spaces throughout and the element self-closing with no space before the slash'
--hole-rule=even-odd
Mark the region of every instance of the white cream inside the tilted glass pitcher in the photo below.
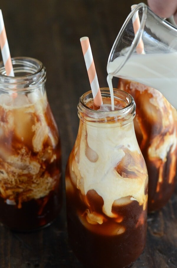
<svg viewBox="0 0 177 268">
<path fill-rule="evenodd" d="M 120 77 L 158 89 L 177 109 L 177 52 L 133 54 L 117 71 L 124 60 L 125 56 L 119 56 L 108 63 L 107 80 Z"/>
</svg>

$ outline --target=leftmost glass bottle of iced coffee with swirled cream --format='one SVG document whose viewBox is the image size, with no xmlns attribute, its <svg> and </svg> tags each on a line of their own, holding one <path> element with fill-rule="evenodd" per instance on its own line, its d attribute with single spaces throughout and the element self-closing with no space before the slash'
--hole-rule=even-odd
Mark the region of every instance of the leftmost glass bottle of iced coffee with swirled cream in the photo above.
<svg viewBox="0 0 177 268">
<path fill-rule="evenodd" d="M 27 57 L 0 63 L 0 221 L 27 231 L 50 224 L 61 206 L 61 150 L 47 101 L 46 70 Z"/>
</svg>

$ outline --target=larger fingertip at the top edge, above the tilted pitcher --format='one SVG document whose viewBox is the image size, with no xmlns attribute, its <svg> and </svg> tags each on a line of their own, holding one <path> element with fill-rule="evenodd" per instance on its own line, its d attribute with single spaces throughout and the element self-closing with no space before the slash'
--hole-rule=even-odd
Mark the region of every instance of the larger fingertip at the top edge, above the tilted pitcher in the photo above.
<svg viewBox="0 0 177 268">
<path fill-rule="evenodd" d="M 177 9 L 176 0 L 148 0 L 148 5 L 155 14 L 163 18 L 169 18 Z"/>
</svg>

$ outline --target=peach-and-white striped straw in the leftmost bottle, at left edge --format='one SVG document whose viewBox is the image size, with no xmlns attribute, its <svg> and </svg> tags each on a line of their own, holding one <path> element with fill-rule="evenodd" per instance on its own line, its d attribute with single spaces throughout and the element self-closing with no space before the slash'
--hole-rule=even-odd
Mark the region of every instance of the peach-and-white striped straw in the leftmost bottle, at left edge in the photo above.
<svg viewBox="0 0 177 268">
<path fill-rule="evenodd" d="M 6 30 L 4 27 L 4 20 L 2 17 L 2 11 L 0 9 L 0 47 L 2 53 L 2 60 L 6 70 L 7 76 L 14 76 L 14 70 L 12 67 L 12 60 L 9 51 L 9 44 L 7 41 Z"/>
</svg>

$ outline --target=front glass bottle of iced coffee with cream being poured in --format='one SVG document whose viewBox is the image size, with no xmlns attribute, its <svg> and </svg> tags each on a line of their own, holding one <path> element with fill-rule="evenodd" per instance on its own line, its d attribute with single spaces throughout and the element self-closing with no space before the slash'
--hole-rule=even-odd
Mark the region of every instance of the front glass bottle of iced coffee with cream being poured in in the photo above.
<svg viewBox="0 0 177 268">
<path fill-rule="evenodd" d="M 101 95 L 109 106 L 109 89 Z M 81 96 L 66 167 L 69 241 L 84 267 L 125 267 L 145 246 L 148 174 L 133 126 L 135 101 L 114 89 L 114 105 L 106 112 L 91 91 Z"/>
</svg>

